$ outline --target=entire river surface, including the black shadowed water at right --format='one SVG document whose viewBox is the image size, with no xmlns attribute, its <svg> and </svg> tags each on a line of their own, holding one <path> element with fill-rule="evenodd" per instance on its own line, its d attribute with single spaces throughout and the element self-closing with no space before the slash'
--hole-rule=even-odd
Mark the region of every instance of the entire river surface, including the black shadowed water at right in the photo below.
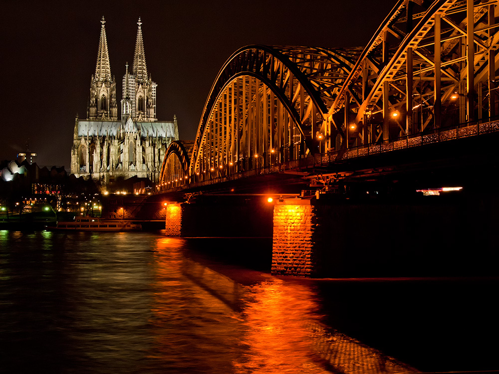
<svg viewBox="0 0 499 374">
<path fill-rule="evenodd" d="M 0 231 L 0 372 L 499 369 L 497 278 L 274 277 L 262 245 Z"/>
</svg>

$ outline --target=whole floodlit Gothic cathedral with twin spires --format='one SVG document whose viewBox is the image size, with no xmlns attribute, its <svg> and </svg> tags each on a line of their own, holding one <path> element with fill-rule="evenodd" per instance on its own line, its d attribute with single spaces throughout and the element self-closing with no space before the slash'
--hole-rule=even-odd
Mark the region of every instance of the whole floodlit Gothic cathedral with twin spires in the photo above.
<svg viewBox="0 0 499 374">
<path fill-rule="evenodd" d="M 159 180 L 170 143 L 179 139 L 177 118 L 156 119 L 156 87 L 148 75 L 142 22 L 131 71 L 123 76 L 121 120 L 118 120 L 116 81 L 111 75 L 105 20 L 102 17 L 95 74 L 90 80 L 87 119 L 76 118 L 71 149 L 71 174 L 93 178 L 102 185 L 117 177 Z"/>
</svg>

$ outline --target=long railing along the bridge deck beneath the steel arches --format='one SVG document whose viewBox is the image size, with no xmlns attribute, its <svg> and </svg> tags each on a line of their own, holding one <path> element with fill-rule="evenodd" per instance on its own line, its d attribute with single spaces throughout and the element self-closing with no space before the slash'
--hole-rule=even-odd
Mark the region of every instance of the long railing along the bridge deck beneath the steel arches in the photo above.
<svg viewBox="0 0 499 374">
<path fill-rule="evenodd" d="M 326 152 L 315 154 L 302 159 L 291 160 L 281 164 L 268 165 L 258 169 L 246 170 L 239 173 L 227 174 L 225 176 L 213 177 L 205 181 L 190 182 L 177 187 L 162 186 L 157 192 L 176 192 L 186 189 L 215 185 L 227 181 L 235 181 L 242 178 L 255 177 L 270 173 L 283 173 L 295 171 L 299 172 L 302 169 L 313 168 L 315 166 L 327 165 L 341 160 L 366 157 L 385 152 L 397 151 L 412 147 L 419 147 L 428 144 L 435 144 L 476 136 L 481 134 L 490 134 L 499 132 L 499 118 L 494 120 L 479 120 L 467 122 L 455 126 L 443 127 L 426 131 L 424 133 L 408 135 L 397 138 L 396 140 L 386 141 L 378 144 L 360 145 L 357 147 L 347 148 L 339 151 Z"/>
</svg>

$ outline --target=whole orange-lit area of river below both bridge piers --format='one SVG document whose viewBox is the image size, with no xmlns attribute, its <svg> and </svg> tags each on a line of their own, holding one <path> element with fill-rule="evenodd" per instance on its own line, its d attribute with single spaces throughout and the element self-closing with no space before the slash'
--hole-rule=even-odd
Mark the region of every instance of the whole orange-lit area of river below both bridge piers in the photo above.
<svg viewBox="0 0 499 374">
<path fill-rule="evenodd" d="M 153 255 L 148 365 L 175 373 L 416 373 L 324 325 L 313 282 L 187 258 L 184 239 L 159 238 Z M 238 283 L 234 279 L 240 279 Z M 150 364 L 149 364 L 150 363 Z"/>
</svg>

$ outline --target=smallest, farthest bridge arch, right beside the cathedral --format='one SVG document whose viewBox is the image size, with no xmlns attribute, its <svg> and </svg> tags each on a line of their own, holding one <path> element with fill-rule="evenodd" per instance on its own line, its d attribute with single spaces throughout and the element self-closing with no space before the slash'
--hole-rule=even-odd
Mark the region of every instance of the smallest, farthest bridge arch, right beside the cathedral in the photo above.
<svg viewBox="0 0 499 374">
<path fill-rule="evenodd" d="M 189 175 L 189 154 L 181 141 L 176 140 L 170 143 L 166 150 L 159 184 L 163 187 L 176 187 L 188 179 Z"/>
</svg>

